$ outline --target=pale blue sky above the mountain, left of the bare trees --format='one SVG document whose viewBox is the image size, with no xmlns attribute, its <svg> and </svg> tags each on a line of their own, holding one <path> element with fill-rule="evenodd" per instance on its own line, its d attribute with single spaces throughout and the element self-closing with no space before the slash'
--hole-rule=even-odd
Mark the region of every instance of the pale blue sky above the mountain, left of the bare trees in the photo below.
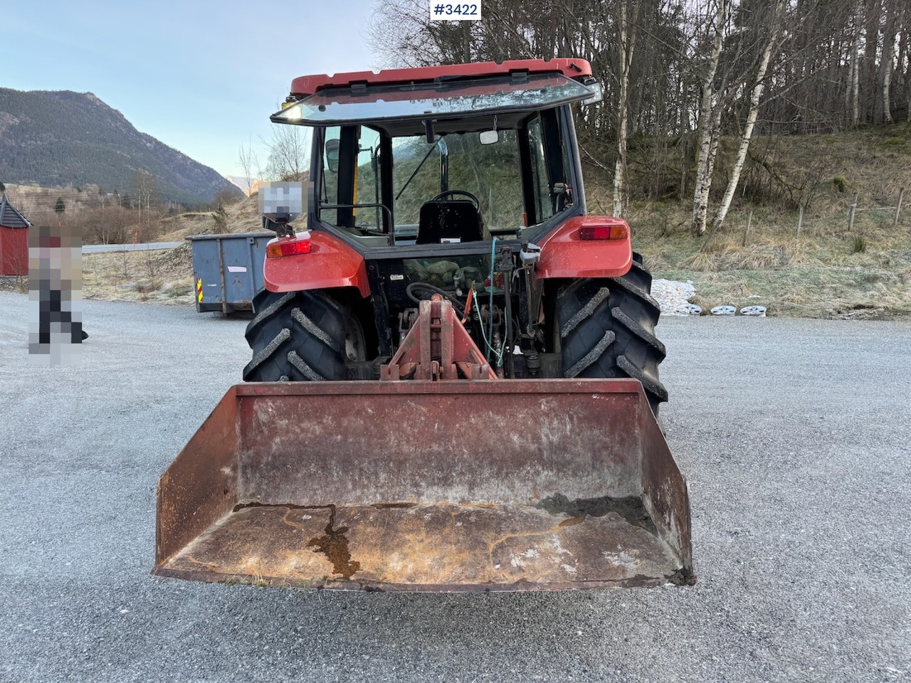
<svg viewBox="0 0 911 683">
<path fill-rule="evenodd" d="M 220 173 L 270 136 L 294 76 L 380 63 L 372 0 L 0 2 L 0 86 L 92 92 L 144 133 Z"/>
</svg>

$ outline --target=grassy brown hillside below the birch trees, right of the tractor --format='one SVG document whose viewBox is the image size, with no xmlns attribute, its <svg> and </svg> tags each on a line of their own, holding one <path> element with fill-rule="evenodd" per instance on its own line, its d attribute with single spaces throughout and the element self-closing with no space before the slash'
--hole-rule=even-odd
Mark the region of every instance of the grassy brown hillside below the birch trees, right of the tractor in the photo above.
<svg viewBox="0 0 911 683">
<path fill-rule="evenodd" d="M 722 139 L 710 216 L 736 144 Z M 667 198 L 641 191 L 656 168 L 680 168 L 681 158 L 649 158 L 660 156 L 644 145 L 630 158 L 640 189 L 628 213 L 633 245 L 656 278 L 690 280 L 703 311 L 761 304 L 774 316 L 911 315 L 911 123 L 755 138 L 731 212 L 703 238 L 691 231 L 691 183 L 683 199 L 679 186 Z M 589 213 L 609 213 L 609 176 L 589 171 Z"/>
</svg>

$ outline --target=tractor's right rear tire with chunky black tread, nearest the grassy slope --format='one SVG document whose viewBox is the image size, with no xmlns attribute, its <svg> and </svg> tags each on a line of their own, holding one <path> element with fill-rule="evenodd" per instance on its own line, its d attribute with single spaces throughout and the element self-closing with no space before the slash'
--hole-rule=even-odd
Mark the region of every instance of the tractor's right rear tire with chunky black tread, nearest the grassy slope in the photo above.
<svg viewBox="0 0 911 683">
<path fill-rule="evenodd" d="M 660 306 L 651 275 L 634 260 L 621 278 L 582 278 L 557 293 L 559 348 L 565 377 L 631 377 L 642 382 L 651 409 L 668 400 L 658 378 L 666 355 L 655 336 Z"/>
</svg>

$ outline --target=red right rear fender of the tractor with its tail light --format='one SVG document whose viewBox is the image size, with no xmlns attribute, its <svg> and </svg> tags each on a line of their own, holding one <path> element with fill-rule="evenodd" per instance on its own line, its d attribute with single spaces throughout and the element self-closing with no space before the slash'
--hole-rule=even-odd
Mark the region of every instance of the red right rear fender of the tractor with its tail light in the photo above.
<svg viewBox="0 0 911 683">
<path fill-rule="evenodd" d="M 590 233 L 607 233 L 614 228 L 624 237 L 613 240 L 586 240 Z M 623 230 L 625 228 L 625 230 Z M 589 235 L 586 235 L 589 233 Z M 623 219 L 605 216 L 575 216 L 568 219 L 539 242 L 541 258 L 538 278 L 617 278 L 632 265 L 630 226 Z"/>
</svg>

